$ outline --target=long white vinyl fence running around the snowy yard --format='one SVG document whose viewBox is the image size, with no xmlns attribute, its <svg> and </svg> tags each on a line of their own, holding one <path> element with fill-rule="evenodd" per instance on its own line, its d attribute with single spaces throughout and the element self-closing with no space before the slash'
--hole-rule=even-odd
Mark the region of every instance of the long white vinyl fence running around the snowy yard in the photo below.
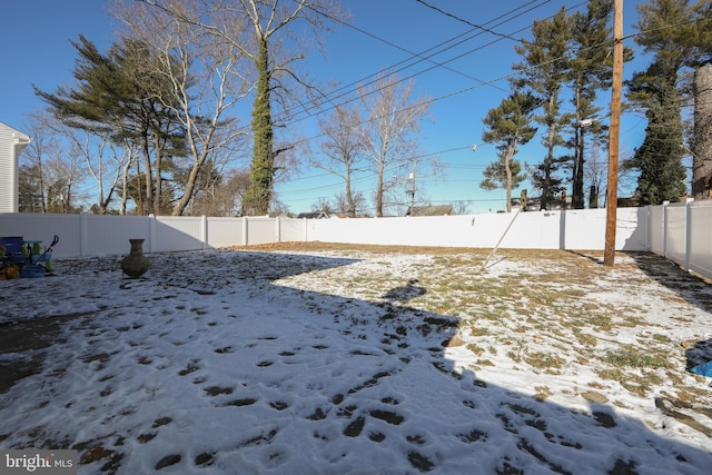
<svg viewBox="0 0 712 475">
<path fill-rule="evenodd" d="M 364 219 L 0 214 L 0 236 L 22 236 L 55 257 L 123 255 L 279 241 L 503 249 L 603 250 L 605 209 Z M 712 201 L 619 208 L 615 248 L 653 251 L 712 278 Z"/>
</svg>

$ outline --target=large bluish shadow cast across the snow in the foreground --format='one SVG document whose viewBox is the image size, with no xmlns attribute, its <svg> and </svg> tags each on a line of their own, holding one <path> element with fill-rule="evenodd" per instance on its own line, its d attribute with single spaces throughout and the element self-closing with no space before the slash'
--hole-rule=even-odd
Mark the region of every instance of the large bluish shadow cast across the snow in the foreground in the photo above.
<svg viewBox="0 0 712 475">
<path fill-rule="evenodd" d="M 215 333 L 210 340 L 215 350 L 192 367 L 190 360 L 165 360 L 161 368 L 174 375 L 171 390 L 189 394 L 200 386 L 221 420 L 219 426 L 206 428 L 198 416 L 177 410 L 166 415 L 166 424 L 180 425 L 185 417 L 192 422 L 186 422 L 182 431 L 190 432 L 194 425 L 198 434 L 212 431 L 220 436 L 194 441 L 192 448 L 150 448 L 150 442 L 128 442 L 140 438 L 137 427 L 132 435 L 120 434 L 112 442 L 111 434 L 106 434 L 103 452 L 92 458 L 90 452 L 98 438 L 82 441 L 81 435 L 67 434 L 67 446 L 80 449 L 85 463 L 95 467 L 105 464 L 109 473 L 140 469 L 131 457 L 149 449 L 156 451 L 155 468 L 176 465 L 172 468 L 180 468 L 180 473 L 644 474 L 695 473 L 712 466 L 711 453 L 661 437 L 642 422 L 616 414 L 610 405 L 582 399 L 582 407 L 567 408 L 457 369 L 447 350 L 458 321 L 406 306 L 407 300 L 427 291 L 413 276 L 400 276 L 403 286 L 384 294 L 382 301 L 366 301 L 278 283 L 297 274 L 348 266 L 354 259 L 206 253 L 201 259 L 208 269 L 204 271 L 210 273 L 206 278 L 181 268 L 180 255 L 151 258 L 160 263 L 154 265 L 150 280 L 192 291 L 197 303 L 224 298 L 225 315 L 196 316 L 216 321 L 210 330 Z M 131 290 L 132 285 L 140 283 L 129 283 L 122 291 Z M 239 293 L 231 294 L 233 288 Z M 109 319 L 110 295 L 105 306 L 98 317 Z M 308 315 L 308 320 L 286 329 L 261 327 L 260 323 L 270 318 L 267 314 L 286 320 L 290 315 Z M 225 326 L 228 333 L 221 333 L 227 331 L 221 318 L 230 321 Z M 170 339 L 170 327 L 161 325 L 162 337 Z M 140 334 L 147 327 L 117 331 L 118 347 L 139 352 L 121 342 L 132 331 L 131 342 L 139 342 L 144 350 L 157 344 L 150 335 Z M 91 345 L 89 331 L 66 338 L 85 338 L 83 345 Z M 219 366 L 225 358 L 234 364 Z M 146 372 L 151 365 L 149 357 Z M 216 375 L 211 367 L 229 369 Z M 259 380 L 247 380 L 255 372 Z M 52 384 L 48 374 L 36 377 Z M 100 389 L 97 384 L 96 390 Z M 131 382 L 117 385 L 118 407 L 111 414 L 80 417 L 100 433 L 102 420 L 122 414 L 120 392 L 127 392 L 128 397 L 131 390 L 136 390 Z M 0 398 L 12 394 L 0 394 Z M 304 394 L 309 397 L 299 399 Z M 98 394 L 83 396 L 99 398 Z M 51 419 L 47 424 L 51 425 Z M 0 431 L 0 437 L 3 448 L 30 443 L 27 435 Z M 176 437 L 174 444 L 180 444 Z M 295 437 L 304 453 L 290 451 Z M 176 451 L 182 451 L 182 456 L 170 458 Z"/>
</svg>

